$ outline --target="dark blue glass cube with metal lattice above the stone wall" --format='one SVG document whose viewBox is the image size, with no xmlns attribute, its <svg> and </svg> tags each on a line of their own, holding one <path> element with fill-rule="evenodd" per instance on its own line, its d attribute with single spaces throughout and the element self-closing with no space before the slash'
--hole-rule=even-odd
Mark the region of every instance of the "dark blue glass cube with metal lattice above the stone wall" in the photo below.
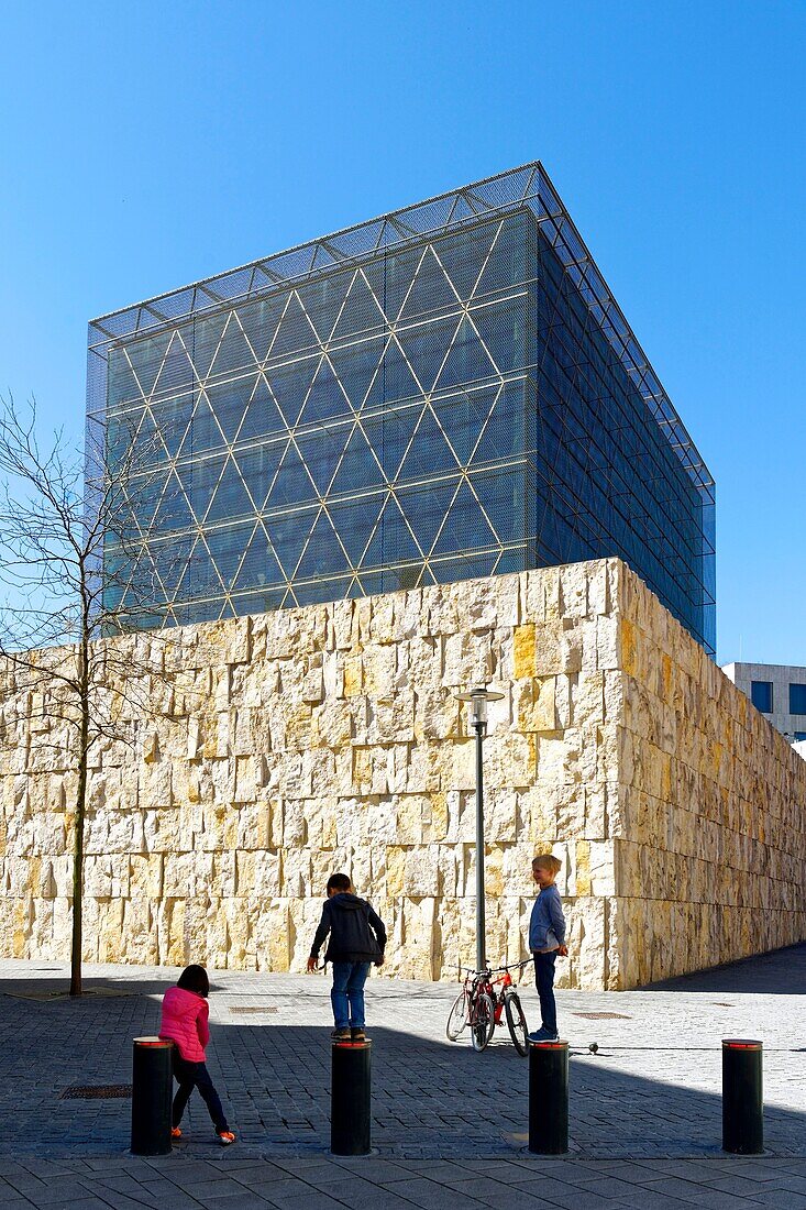
<svg viewBox="0 0 806 1210">
<path fill-rule="evenodd" d="M 540 163 L 90 324 L 132 627 L 620 555 L 713 653 L 714 482 Z"/>
</svg>

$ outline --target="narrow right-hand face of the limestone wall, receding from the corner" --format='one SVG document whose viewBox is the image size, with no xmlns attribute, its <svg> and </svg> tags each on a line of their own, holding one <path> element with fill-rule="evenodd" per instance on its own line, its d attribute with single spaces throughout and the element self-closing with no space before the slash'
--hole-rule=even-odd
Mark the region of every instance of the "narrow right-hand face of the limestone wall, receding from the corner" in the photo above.
<svg viewBox="0 0 806 1210">
<path fill-rule="evenodd" d="M 806 760 L 620 577 L 611 927 L 632 987 L 806 938 Z"/>
</svg>

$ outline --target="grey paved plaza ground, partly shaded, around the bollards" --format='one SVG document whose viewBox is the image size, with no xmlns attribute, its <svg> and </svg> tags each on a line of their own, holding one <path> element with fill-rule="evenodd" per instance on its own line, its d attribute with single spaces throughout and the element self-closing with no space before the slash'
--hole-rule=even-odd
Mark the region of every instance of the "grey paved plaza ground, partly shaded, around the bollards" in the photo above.
<svg viewBox="0 0 806 1210">
<path fill-rule="evenodd" d="M 238 1142 L 202 1102 L 169 1157 L 127 1154 L 131 1039 L 159 1026 L 177 972 L 0 962 L 0 1206 L 806 1206 L 806 945 L 635 992 L 560 992 L 571 1044 L 570 1154 L 525 1152 L 526 1068 L 502 1028 L 480 1055 L 449 1043 L 454 984 L 374 978 L 373 1146 L 334 1159 L 329 980 L 212 973 L 208 1066 Z M 530 1025 L 536 995 L 525 985 Z M 599 1015 L 600 1014 L 600 1015 Z M 720 1039 L 765 1044 L 766 1153 L 720 1150 Z M 598 1042 L 599 1051 L 588 1051 Z M 122 1089 L 125 1091 L 125 1088 Z"/>
</svg>

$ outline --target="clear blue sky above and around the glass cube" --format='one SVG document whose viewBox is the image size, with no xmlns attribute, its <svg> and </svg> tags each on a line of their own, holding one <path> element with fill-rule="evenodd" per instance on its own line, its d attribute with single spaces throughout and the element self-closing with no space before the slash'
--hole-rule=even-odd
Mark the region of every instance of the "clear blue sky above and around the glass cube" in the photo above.
<svg viewBox="0 0 806 1210">
<path fill-rule="evenodd" d="M 806 4 L 34 2 L 0 18 L 0 388 L 86 323 L 543 160 L 718 483 L 719 659 L 806 664 Z"/>
</svg>

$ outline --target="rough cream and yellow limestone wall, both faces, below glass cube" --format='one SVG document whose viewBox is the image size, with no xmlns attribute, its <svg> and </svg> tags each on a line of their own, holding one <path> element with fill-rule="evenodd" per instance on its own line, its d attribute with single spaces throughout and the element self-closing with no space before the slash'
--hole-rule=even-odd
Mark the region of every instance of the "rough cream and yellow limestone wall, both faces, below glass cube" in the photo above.
<svg viewBox="0 0 806 1210">
<path fill-rule="evenodd" d="M 87 960 L 301 970 L 345 870 L 387 922 L 386 975 L 453 976 L 476 909 L 474 739 L 454 693 L 479 680 L 505 692 L 485 743 L 494 962 L 525 956 L 547 848 L 566 986 L 805 935 L 806 762 L 618 560 L 114 641 L 139 684 L 110 686 L 119 736 L 92 754 Z M 69 952 L 56 692 L 0 670 L 4 956 Z"/>
</svg>

